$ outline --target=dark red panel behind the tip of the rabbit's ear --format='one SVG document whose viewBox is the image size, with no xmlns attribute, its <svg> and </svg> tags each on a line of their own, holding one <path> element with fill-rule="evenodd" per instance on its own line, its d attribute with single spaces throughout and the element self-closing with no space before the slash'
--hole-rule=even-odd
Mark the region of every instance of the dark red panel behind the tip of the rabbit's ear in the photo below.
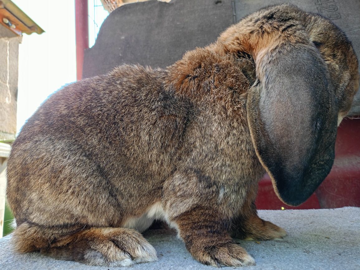
<svg viewBox="0 0 360 270">
<path fill-rule="evenodd" d="M 360 120 L 344 119 L 335 145 L 335 161 L 324 182 L 306 202 L 286 206 L 276 196 L 268 175 L 259 183 L 258 209 L 318 209 L 344 206 L 360 207 Z"/>
</svg>

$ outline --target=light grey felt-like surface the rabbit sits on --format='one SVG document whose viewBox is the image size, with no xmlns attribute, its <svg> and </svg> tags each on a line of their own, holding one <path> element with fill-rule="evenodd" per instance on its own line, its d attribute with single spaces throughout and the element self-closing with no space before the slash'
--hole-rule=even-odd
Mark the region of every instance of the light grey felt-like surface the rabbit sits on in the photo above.
<svg viewBox="0 0 360 270">
<path fill-rule="evenodd" d="M 360 208 L 319 210 L 261 210 L 260 217 L 282 226 L 288 232 L 283 240 L 257 244 L 237 241 L 256 260 L 252 269 L 360 269 Z M 128 269 L 215 269 L 199 264 L 186 251 L 175 231 L 159 229 L 145 232 L 155 247 L 159 261 Z M 11 252 L 10 237 L 0 240 L 0 269 L 79 269 L 107 270 L 77 262 L 54 260 L 39 253 L 18 255 Z M 226 267 L 233 269 L 235 267 Z M 241 268 L 241 267 L 239 267 Z M 111 269 L 115 269 L 111 267 Z M 118 268 L 121 269 L 121 268 Z"/>
</svg>

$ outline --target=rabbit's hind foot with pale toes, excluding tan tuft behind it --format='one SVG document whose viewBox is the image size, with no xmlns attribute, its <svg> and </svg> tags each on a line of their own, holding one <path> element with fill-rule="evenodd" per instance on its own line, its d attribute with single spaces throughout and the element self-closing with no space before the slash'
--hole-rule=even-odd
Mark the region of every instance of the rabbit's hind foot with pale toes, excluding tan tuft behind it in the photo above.
<svg viewBox="0 0 360 270">
<path fill-rule="evenodd" d="M 153 246 L 138 231 L 126 228 L 90 228 L 63 237 L 41 253 L 89 265 L 131 266 L 157 261 Z"/>
</svg>

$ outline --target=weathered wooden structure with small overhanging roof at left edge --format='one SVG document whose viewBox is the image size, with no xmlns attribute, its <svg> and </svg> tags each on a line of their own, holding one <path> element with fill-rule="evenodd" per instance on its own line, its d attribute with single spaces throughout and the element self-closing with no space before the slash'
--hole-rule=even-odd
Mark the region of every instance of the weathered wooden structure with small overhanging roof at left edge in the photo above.
<svg viewBox="0 0 360 270">
<path fill-rule="evenodd" d="M 0 238 L 5 213 L 6 162 L 16 135 L 19 44 L 22 33 L 44 32 L 12 1 L 0 0 Z"/>
</svg>

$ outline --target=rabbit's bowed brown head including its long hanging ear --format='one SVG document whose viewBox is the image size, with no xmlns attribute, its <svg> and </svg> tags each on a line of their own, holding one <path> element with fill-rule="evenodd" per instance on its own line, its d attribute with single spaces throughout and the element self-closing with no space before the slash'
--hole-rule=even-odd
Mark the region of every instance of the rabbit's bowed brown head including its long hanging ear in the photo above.
<svg viewBox="0 0 360 270">
<path fill-rule="evenodd" d="M 329 174 L 337 126 L 359 88 L 351 42 L 328 19 L 282 4 L 234 24 L 213 49 L 254 59 L 252 141 L 278 197 L 301 204 Z"/>
</svg>

